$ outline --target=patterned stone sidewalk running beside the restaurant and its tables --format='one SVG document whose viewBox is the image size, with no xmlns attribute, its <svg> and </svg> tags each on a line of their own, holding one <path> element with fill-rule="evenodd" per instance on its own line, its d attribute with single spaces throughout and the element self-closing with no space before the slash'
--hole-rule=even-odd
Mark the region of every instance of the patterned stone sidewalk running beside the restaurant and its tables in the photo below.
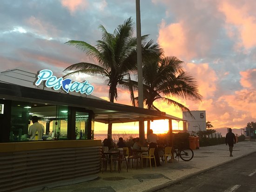
<svg viewBox="0 0 256 192">
<path fill-rule="evenodd" d="M 241 158 L 256 152 L 256 142 L 244 141 L 234 146 L 233 156 L 229 157 L 229 147 L 226 145 L 200 147 L 194 150 L 194 158 L 185 162 L 176 158 L 174 163 L 165 166 L 142 169 L 138 167 L 122 171 L 99 173 L 99 178 L 93 181 L 75 185 L 66 185 L 46 189 L 47 192 L 154 192 L 164 186 L 179 182 L 182 179 L 194 176 L 223 165 L 234 159 Z M 109 169 L 108 169 L 109 170 Z M 46 192 L 46 190 L 40 192 Z"/>
</svg>

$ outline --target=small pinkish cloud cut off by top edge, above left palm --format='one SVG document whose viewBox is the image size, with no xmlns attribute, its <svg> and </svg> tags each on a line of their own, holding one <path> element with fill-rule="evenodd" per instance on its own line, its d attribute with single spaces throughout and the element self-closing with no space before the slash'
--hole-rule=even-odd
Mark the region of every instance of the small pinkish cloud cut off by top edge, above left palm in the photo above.
<svg viewBox="0 0 256 192">
<path fill-rule="evenodd" d="M 88 7 L 88 0 L 61 0 L 61 5 L 67 7 L 71 14 L 75 11 L 84 10 Z"/>
</svg>

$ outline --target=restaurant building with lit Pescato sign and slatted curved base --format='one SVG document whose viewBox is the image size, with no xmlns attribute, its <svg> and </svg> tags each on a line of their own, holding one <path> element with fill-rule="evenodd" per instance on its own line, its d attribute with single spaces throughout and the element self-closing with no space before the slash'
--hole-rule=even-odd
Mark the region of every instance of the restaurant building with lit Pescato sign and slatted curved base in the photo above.
<svg viewBox="0 0 256 192">
<path fill-rule="evenodd" d="M 96 179 L 101 140 L 94 139 L 95 121 L 179 119 L 108 102 L 93 96 L 93 90 L 88 80 L 57 78 L 47 69 L 37 74 L 22 69 L 0 73 L 0 192 L 37 191 Z M 34 115 L 45 127 L 37 141 L 27 134 Z"/>
</svg>

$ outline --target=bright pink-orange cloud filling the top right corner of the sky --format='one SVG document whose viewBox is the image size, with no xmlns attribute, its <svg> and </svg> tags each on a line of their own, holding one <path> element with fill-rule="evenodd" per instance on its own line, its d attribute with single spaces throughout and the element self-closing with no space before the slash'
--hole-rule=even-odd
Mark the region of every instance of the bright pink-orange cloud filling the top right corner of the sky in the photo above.
<svg viewBox="0 0 256 192">
<path fill-rule="evenodd" d="M 236 38 L 235 49 L 240 51 L 243 49 L 250 49 L 256 46 L 256 2 L 254 0 L 234 1 L 225 0 L 220 1 L 219 10 L 224 13 L 226 19 L 226 30 L 229 37 L 233 40 Z"/>
</svg>

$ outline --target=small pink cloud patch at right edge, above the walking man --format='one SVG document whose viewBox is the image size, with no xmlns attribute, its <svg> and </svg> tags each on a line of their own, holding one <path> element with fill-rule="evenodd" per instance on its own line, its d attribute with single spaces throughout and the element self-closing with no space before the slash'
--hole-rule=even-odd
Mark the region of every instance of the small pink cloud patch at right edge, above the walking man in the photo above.
<svg viewBox="0 0 256 192">
<path fill-rule="evenodd" d="M 256 89 L 256 69 L 249 69 L 247 71 L 240 72 L 240 83 L 243 87 Z"/>
</svg>

